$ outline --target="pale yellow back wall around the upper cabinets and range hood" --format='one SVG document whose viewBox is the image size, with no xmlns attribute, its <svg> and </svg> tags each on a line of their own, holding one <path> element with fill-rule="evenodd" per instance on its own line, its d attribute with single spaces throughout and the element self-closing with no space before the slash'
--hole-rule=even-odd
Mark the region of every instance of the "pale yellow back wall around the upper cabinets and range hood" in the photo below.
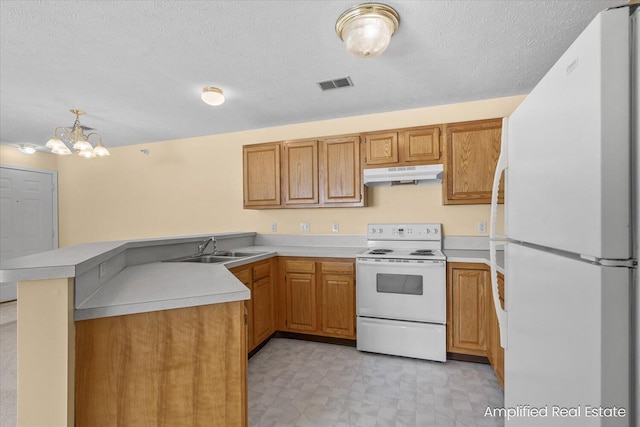
<svg viewBox="0 0 640 427">
<path fill-rule="evenodd" d="M 60 157 L 60 246 L 86 241 L 214 231 L 365 234 L 369 222 L 441 222 L 446 234 L 478 235 L 489 208 L 442 206 L 442 186 L 370 189 L 370 207 L 244 210 L 242 145 L 509 115 L 524 96 L 301 123 L 127 147 L 102 159 Z M 220 107 L 224 108 L 224 107 Z M 149 154 L 141 152 L 148 149 Z"/>
</svg>

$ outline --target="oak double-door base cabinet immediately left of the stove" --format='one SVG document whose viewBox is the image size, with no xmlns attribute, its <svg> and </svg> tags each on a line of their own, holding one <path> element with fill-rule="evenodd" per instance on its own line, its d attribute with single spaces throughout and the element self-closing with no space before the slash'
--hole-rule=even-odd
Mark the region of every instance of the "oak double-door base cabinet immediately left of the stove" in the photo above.
<svg viewBox="0 0 640 427">
<path fill-rule="evenodd" d="M 278 327 L 355 339 L 355 262 L 336 258 L 280 257 Z"/>
</svg>

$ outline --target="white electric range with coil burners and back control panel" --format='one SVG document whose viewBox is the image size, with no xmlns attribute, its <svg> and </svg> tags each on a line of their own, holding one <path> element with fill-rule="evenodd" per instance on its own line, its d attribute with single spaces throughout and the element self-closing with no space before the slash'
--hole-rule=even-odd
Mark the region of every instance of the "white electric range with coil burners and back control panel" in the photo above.
<svg viewBox="0 0 640 427">
<path fill-rule="evenodd" d="M 369 224 L 356 302 L 358 350 L 446 361 L 441 224 Z"/>
</svg>

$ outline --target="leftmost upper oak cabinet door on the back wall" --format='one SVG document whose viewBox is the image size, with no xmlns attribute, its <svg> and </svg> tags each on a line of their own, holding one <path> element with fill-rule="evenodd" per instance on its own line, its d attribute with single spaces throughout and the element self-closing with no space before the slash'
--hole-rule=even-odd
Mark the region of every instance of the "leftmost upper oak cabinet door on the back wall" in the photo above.
<svg viewBox="0 0 640 427">
<path fill-rule="evenodd" d="M 272 143 L 242 147 L 245 208 L 280 206 L 280 146 Z"/>
</svg>

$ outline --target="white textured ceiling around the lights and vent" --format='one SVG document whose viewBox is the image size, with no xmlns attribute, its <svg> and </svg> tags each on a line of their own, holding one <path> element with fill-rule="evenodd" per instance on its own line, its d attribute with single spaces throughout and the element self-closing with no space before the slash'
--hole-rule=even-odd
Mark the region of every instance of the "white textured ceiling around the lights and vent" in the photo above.
<svg viewBox="0 0 640 427">
<path fill-rule="evenodd" d="M 353 0 L 2 0 L 0 143 L 44 145 L 71 108 L 114 147 L 524 94 L 625 3 L 389 0 L 389 49 L 356 59 L 334 32 Z"/>
</svg>

